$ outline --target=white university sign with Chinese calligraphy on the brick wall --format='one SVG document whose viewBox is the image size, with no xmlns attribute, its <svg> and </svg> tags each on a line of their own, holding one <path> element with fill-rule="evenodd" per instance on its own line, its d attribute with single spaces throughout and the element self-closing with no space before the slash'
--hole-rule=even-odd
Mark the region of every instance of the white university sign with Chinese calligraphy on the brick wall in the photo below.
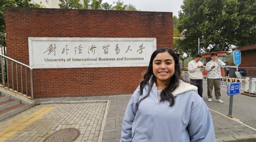
<svg viewBox="0 0 256 142">
<path fill-rule="evenodd" d="M 32 68 L 148 66 L 156 38 L 29 38 Z"/>
</svg>

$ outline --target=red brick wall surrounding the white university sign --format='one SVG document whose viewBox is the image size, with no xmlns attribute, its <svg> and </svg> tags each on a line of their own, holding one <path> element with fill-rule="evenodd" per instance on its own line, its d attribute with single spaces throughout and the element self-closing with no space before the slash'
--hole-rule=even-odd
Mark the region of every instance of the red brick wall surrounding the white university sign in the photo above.
<svg viewBox="0 0 256 142">
<path fill-rule="evenodd" d="M 28 37 L 157 38 L 173 48 L 171 12 L 6 8 L 5 22 L 7 55 L 27 65 Z M 132 93 L 146 68 L 34 69 L 34 97 Z"/>
</svg>

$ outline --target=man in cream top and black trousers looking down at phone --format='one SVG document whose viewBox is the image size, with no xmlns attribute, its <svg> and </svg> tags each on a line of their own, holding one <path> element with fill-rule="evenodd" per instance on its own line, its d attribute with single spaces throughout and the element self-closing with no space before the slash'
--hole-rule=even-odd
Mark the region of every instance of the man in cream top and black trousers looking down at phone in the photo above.
<svg viewBox="0 0 256 142">
<path fill-rule="evenodd" d="M 200 61 L 201 59 L 202 59 L 202 55 L 196 54 L 195 60 L 192 60 L 188 63 L 188 74 L 189 74 L 191 84 L 197 87 L 197 92 L 202 97 L 203 96 L 203 74 L 202 74 L 203 63 Z"/>
</svg>

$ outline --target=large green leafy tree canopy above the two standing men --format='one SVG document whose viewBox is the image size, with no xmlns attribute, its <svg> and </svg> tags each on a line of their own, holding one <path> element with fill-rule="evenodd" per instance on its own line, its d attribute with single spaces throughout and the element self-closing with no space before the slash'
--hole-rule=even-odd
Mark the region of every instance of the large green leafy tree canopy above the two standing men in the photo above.
<svg viewBox="0 0 256 142">
<path fill-rule="evenodd" d="M 193 54 L 198 38 L 202 52 L 256 43 L 255 0 L 184 0 L 181 9 L 176 26 L 188 30 L 181 44 Z"/>
</svg>

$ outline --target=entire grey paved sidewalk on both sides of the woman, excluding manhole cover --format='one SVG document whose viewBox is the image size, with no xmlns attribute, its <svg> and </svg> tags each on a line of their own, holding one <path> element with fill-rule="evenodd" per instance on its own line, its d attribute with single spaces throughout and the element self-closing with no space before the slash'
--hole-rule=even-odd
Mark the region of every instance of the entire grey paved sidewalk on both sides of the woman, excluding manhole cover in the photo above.
<svg viewBox="0 0 256 142">
<path fill-rule="evenodd" d="M 131 94 L 35 99 L 36 104 L 41 102 L 50 104 L 34 106 L 1 121 L 0 141 L 3 130 L 8 131 L 8 134 L 5 134 L 5 137 L 10 137 L 7 139 L 8 142 L 42 142 L 55 131 L 64 128 L 77 128 L 81 134 L 75 142 L 119 142 L 123 117 L 130 97 Z M 93 100 L 110 100 L 110 106 L 108 107 L 106 102 Z M 91 103 L 86 103 L 86 101 Z M 214 110 L 210 109 L 210 112 L 217 142 L 256 141 L 255 130 Z M 108 117 L 103 118 L 103 115 L 106 114 Z M 106 121 L 106 125 L 102 123 L 104 121 Z M 16 128 L 19 124 L 22 126 Z M 102 130 L 104 127 L 103 137 L 100 137 L 99 128 Z"/>
</svg>

